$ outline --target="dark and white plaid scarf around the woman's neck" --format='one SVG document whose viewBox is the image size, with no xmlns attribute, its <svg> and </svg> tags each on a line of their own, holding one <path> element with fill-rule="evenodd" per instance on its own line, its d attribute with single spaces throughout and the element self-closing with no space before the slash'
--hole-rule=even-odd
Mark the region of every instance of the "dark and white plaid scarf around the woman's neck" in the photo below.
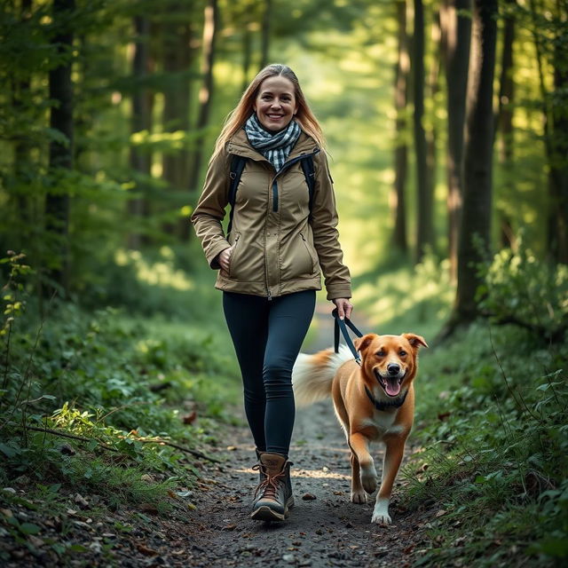
<svg viewBox="0 0 568 568">
<path fill-rule="evenodd" d="M 292 120 L 284 130 L 272 133 L 264 130 L 258 122 L 256 114 L 251 114 L 248 121 L 245 122 L 245 132 L 250 146 L 263 154 L 264 158 L 272 163 L 276 171 L 280 171 L 296 144 L 301 130 L 298 123 Z"/>
</svg>

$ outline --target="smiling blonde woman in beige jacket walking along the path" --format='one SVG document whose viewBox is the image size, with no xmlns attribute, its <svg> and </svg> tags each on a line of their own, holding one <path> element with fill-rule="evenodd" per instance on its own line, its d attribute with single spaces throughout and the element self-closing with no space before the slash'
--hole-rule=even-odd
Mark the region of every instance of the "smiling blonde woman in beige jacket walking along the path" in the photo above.
<svg viewBox="0 0 568 568">
<path fill-rule="evenodd" d="M 259 484 L 251 517 L 284 520 L 294 504 L 288 449 L 295 406 L 292 367 L 310 326 L 315 291 L 351 315 L 351 280 L 337 240 L 337 214 L 323 135 L 295 73 L 270 65 L 256 75 L 221 131 L 193 212 L 209 265 L 219 270 L 225 319 L 244 385 Z M 244 170 L 230 201 L 234 156 Z M 313 193 L 302 161 L 312 159 Z M 236 181 L 236 180 L 235 180 Z"/>
</svg>

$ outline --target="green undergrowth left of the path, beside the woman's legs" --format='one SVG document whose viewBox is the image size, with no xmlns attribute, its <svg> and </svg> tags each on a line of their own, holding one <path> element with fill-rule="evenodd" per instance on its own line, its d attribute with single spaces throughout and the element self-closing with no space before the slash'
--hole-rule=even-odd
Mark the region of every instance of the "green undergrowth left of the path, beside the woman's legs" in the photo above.
<svg viewBox="0 0 568 568">
<path fill-rule="evenodd" d="M 51 301 L 40 318 L 25 258 L 3 263 L 2 486 L 23 487 L 25 501 L 50 509 L 69 492 L 96 493 L 111 510 L 146 503 L 165 512 L 187 501 L 208 459 L 201 447 L 220 444 L 217 425 L 233 421 L 237 398 L 219 314 L 198 324 L 187 307 L 165 319 L 144 308 L 143 318 L 128 306 L 86 311 Z M 0 503 L 18 495 L 0 492 Z M 10 518 L 0 520 L 11 533 L 26 532 Z"/>
</svg>

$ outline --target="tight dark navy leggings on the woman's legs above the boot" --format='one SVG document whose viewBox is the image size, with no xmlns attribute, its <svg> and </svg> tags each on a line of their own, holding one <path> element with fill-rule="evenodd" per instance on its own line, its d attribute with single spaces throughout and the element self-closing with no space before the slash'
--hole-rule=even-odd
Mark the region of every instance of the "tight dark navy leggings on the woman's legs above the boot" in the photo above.
<svg viewBox="0 0 568 568">
<path fill-rule="evenodd" d="M 273 297 L 223 293 L 241 367 L 245 412 L 261 452 L 288 455 L 296 407 L 292 367 L 312 321 L 315 290 Z"/>
</svg>

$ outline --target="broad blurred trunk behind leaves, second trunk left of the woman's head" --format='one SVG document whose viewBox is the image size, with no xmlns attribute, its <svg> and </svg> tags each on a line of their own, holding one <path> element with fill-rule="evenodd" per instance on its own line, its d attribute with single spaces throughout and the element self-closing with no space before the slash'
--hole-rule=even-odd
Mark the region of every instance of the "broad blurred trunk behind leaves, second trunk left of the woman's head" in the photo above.
<svg viewBox="0 0 568 568">
<path fill-rule="evenodd" d="M 182 4 L 174 4 L 171 9 L 181 12 Z M 169 22 L 164 25 L 162 33 L 163 69 L 168 75 L 168 83 L 164 89 L 163 130 L 176 132 L 189 130 L 190 78 L 192 63 L 190 46 L 192 33 L 187 22 Z M 185 147 L 174 152 L 163 154 L 162 177 L 176 192 L 186 191 L 187 152 Z M 170 223 L 164 225 L 166 233 L 178 233 L 183 241 L 189 238 L 189 222 L 186 218 L 179 221 L 178 226 Z"/>
</svg>

